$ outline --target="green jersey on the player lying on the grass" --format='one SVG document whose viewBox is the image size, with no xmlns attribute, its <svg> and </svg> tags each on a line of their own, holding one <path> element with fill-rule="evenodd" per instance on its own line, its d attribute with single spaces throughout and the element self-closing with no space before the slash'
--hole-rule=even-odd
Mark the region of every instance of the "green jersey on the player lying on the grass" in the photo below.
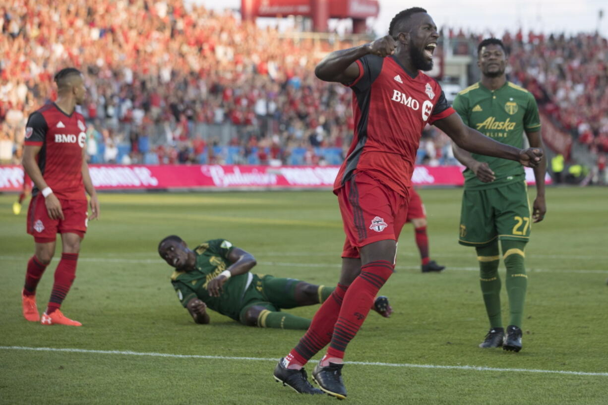
<svg viewBox="0 0 608 405">
<path fill-rule="evenodd" d="M 207 308 L 238 320 L 241 300 L 252 277 L 249 272 L 230 277 L 219 297 L 212 297 L 207 291 L 207 283 L 230 266 L 228 255 L 232 249 L 232 243 L 224 239 L 214 239 L 199 244 L 194 249 L 196 270 L 173 272 L 171 283 L 184 308 L 188 301 L 198 297 L 207 304 Z"/>
</svg>

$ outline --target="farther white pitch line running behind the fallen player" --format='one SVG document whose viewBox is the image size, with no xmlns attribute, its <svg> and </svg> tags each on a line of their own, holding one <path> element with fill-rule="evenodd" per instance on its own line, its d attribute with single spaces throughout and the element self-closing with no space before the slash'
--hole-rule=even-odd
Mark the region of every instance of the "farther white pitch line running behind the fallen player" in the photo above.
<svg viewBox="0 0 608 405">
<path fill-rule="evenodd" d="M 28 258 L 25 256 L 1 256 L 0 260 L 27 260 Z M 54 257 L 53 261 L 58 261 L 58 257 Z M 157 264 L 160 265 L 164 263 L 160 258 L 158 259 L 129 259 L 129 258 L 109 258 L 109 257 L 79 257 L 78 261 L 80 262 L 91 262 L 91 263 L 139 263 L 139 264 Z M 325 263 L 289 263 L 284 261 L 258 261 L 258 265 L 261 266 L 281 266 L 281 267 L 307 267 L 307 268 L 332 268 L 339 269 L 340 265 L 335 264 L 325 264 Z M 399 266 L 396 267 L 397 271 L 399 270 L 419 270 L 420 266 Z M 446 271 L 479 271 L 477 267 L 454 267 L 448 266 Z M 551 273 L 572 273 L 572 274 L 581 274 L 581 273 L 589 273 L 589 274 L 608 274 L 608 270 L 585 270 L 585 269 L 536 269 L 531 268 L 527 269 L 528 272 L 551 272 Z"/>
</svg>

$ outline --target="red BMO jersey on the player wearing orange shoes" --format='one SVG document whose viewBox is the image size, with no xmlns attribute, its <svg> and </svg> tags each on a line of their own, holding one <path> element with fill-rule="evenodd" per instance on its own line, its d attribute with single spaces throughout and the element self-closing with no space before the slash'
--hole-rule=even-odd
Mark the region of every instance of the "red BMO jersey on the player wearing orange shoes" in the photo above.
<svg viewBox="0 0 608 405">
<path fill-rule="evenodd" d="M 82 181 L 85 118 L 79 112 L 67 115 L 49 103 L 27 119 L 26 145 L 41 146 L 38 167 L 57 198 L 86 199 Z M 38 189 L 34 187 L 32 195 Z"/>
</svg>

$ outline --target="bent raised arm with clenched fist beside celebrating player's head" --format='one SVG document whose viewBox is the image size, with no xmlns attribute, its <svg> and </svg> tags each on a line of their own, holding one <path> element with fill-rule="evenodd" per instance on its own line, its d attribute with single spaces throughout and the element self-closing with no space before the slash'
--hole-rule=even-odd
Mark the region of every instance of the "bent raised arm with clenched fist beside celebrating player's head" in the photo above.
<svg viewBox="0 0 608 405">
<path fill-rule="evenodd" d="M 397 42 L 387 35 L 361 46 L 334 50 L 317 64 L 314 74 L 323 81 L 350 83 L 361 74 L 356 60 L 369 54 L 384 58 L 393 55 L 396 47 Z"/>
</svg>

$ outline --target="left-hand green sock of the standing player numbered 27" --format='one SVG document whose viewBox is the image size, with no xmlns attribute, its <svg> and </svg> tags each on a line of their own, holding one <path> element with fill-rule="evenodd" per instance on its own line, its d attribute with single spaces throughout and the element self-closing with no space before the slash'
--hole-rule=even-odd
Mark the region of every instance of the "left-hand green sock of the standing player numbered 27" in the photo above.
<svg viewBox="0 0 608 405">
<path fill-rule="evenodd" d="M 490 328 L 502 328 L 498 241 L 494 241 L 487 246 L 475 247 L 475 251 L 477 251 L 477 260 L 479 261 L 479 285 L 482 288 L 483 302 L 486 305 Z"/>
</svg>

